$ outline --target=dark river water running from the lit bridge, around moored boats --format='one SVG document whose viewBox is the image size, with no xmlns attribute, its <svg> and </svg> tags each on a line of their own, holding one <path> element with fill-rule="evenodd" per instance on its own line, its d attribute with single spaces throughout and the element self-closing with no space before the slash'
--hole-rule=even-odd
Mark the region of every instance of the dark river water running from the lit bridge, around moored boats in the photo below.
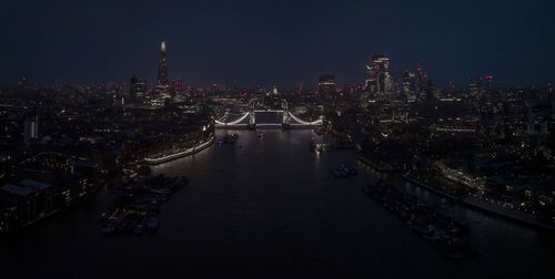
<svg viewBox="0 0 555 279">
<path fill-rule="evenodd" d="M 0 278 L 461 278 L 552 277 L 555 237 L 464 207 L 482 255 L 444 258 L 362 193 L 379 174 L 349 151 L 315 156 L 310 131 L 238 131 L 235 146 L 157 166 L 190 185 L 162 206 L 154 235 L 102 237 L 98 217 L 113 197 L 0 240 Z M 220 134 L 221 132 L 219 132 Z M 242 148 L 240 148 L 242 146 Z M 357 177 L 330 169 L 356 166 Z M 430 202 L 431 193 L 404 184 Z"/>
</svg>

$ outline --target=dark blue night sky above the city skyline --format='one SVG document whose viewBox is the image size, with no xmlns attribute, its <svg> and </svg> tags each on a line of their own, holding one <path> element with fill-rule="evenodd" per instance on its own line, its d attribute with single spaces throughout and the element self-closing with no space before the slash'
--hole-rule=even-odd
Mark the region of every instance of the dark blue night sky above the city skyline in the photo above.
<svg viewBox="0 0 555 279">
<path fill-rule="evenodd" d="M 87 2 L 87 3 L 85 3 Z M 160 42 L 185 84 L 314 85 L 364 80 L 372 53 L 395 80 L 421 63 L 438 86 L 493 74 L 555 82 L 552 1 L 10 1 L 0 10 L 0 83 L 151 84 Z"/>
</svg>

